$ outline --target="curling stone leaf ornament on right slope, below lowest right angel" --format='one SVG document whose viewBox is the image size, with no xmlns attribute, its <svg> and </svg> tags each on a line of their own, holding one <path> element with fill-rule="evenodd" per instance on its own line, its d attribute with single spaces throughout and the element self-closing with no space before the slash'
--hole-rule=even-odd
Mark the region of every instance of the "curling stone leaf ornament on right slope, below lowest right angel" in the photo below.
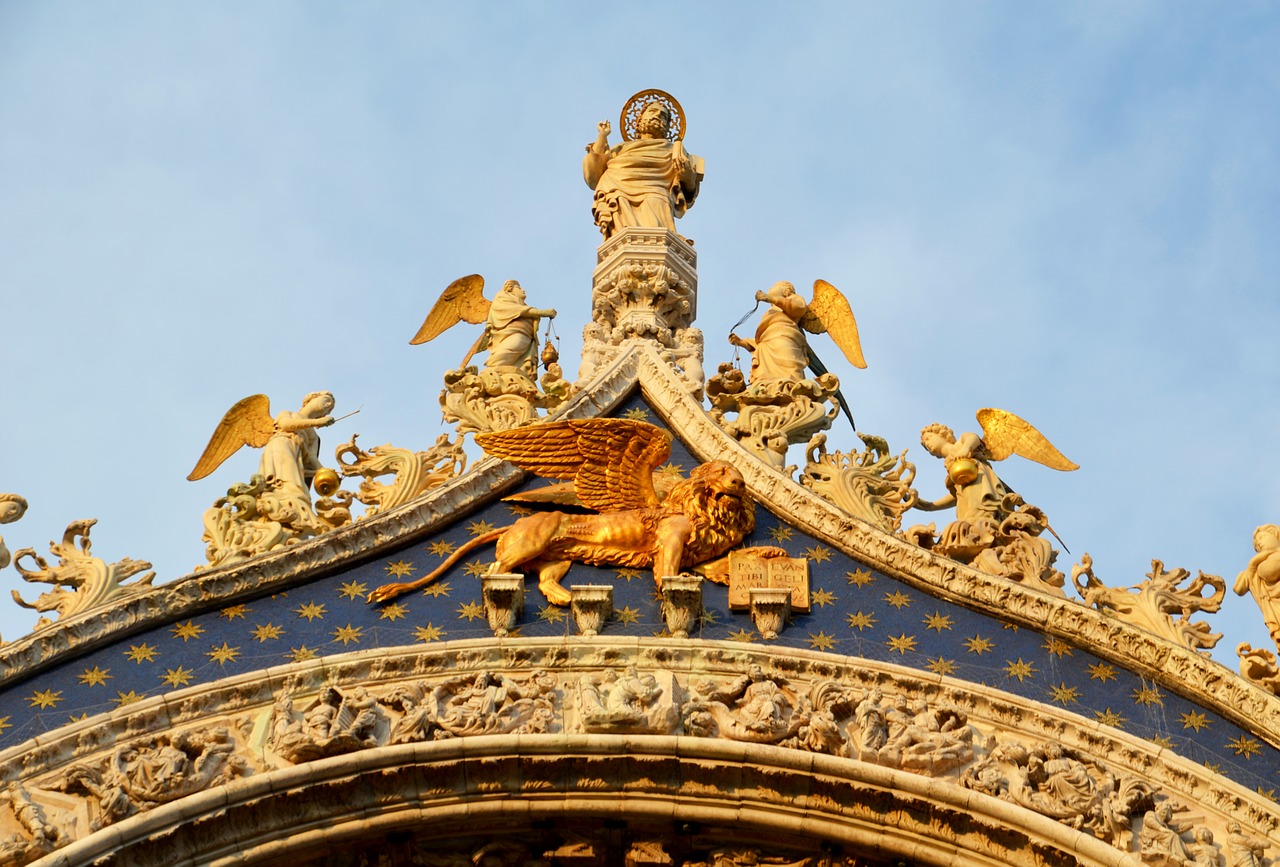
<svg viewBox="0 0 1280 867">
<path fill-rule="evenodd" d="M 1093 558 L 1088 553 L 1071 567 L 1071 583 L 1085 604 L 1183 647 L 1207 652 L 1222 634 L 1210 633 L 1207 622 L 1192 622 L 1190 616 L 1199 611 L 1216 612 L 1226 597 L 1226 581 L 1201 572 L 1190 584 L 1179 588 L 1188 578 L 1190 572 L 1185 569 L 1166 572 L 1161 561 L 1152 560 L 1151 571 L 1142 584 L 1106 587 L 1093 574 Z M 1206 588 L 1207 596 L 1203 593 Z M 1175 613 L 1179 615 L 1176 620 Z"/>
</svg>

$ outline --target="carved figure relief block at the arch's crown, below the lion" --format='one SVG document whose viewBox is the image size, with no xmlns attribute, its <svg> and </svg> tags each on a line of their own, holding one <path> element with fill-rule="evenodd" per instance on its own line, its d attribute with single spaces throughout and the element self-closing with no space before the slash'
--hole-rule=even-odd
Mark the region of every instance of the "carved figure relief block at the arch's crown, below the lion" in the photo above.
<svg viewBox="0 0 1280 867">
<path fill-rule="evenodd" d="M 577 680 L 581 731 L 673 734 L 680 724 L 680 686 L 669 671 L 639 674 L 634 666 L 585 674 Z"/>
</svg>

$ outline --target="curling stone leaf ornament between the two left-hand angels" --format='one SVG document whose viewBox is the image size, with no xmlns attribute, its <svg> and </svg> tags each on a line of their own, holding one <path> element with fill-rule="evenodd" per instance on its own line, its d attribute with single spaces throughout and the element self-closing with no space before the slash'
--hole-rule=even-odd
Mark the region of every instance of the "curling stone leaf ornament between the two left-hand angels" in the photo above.
<svg viewBox="0 0 1280 867">
<path fill-rule="evenodd" d="M 365 517 L 416 499 L 467 467 L 461 439 L 451 441 L 448 434 L 440 434 L 425 452 L 411 452 L 390 443 L 365 451 L 356 446 L 356 435 L 352 435 L 334 451 L 334 460 L 344 478 L 364 478 L 355 496 L 367 507 Z M 390 484 L 375 480 L 385 475 L 393 476 Z"/>
</svg>

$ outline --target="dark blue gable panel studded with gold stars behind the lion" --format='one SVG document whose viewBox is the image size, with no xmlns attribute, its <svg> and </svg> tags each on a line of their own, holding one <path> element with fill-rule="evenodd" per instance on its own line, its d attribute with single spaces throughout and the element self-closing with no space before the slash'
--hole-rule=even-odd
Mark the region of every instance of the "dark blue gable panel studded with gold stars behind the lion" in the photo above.
<svg viewBox="0 0 1280 867">
<path fill-rule="evenodd" d="M 660 424 L 639 398 L 620 415 Z M 696 460 L 678 441 L 671 464 L 687 474 Z M 540 487 L 534 480 L 527 487 Z M 511 524 L 524 507 L 494 502 L 425 543 L 401 548 L 303 588 L 209 611 L 105 645 L 0 692 L 0 748 L 69 720 L 93 716 L 182 686 L 349 651 L 430 645 L 492 635 L 479 575 L 493 562 L 481 546 L 425 590 L 381 604 L 366 594 L 388 581 L 425 575 L 458 547 Z M 805 557 L 810 611 L 763 642 L 745 613 L 730 612 L 727 588 L 704 585 L 705 615 L 691 638 L 824 651 L 983 684 L 1056 704 L 1162 744 L 1238 782 L 1275 795 L 1280 752 L 1216 713 L 1061 639 L 940 601 L 805 535 L 762 507 L 745 544 L 771 544 Z M 613 584 L 614 617 L 605 635 L 663 635 L 649 570 L 575 565 L 563 584 Z M 549 606 L 529 581 L 524 636 L 571 636 L 568 611 Z"/>
</svg>

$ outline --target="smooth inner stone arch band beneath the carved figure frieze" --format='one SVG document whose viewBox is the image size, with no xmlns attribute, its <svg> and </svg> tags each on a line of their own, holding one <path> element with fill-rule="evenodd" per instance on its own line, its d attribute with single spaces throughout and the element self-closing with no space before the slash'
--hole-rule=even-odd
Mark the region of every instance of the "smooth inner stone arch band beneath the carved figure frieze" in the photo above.
<svg viewBox="0 0 1280 867">
<path fill-rule="evenodd" d="M 492 735 L 369 749 L 238 780 L 35 864 L 310 867 L 346 863 L 334 853 L 362 847 L 404 852 L 412 840 L 444 852 L 460 839 L 536 841 L 593 829 L 623 844 L 664 841 L 676 867 L 717 843 L 797 861 L 808 853 L 813 864 L 1138 863 L 1032 811 L 874 765 L 699 738 Z"/>
</svg>

